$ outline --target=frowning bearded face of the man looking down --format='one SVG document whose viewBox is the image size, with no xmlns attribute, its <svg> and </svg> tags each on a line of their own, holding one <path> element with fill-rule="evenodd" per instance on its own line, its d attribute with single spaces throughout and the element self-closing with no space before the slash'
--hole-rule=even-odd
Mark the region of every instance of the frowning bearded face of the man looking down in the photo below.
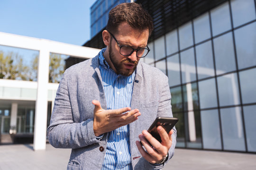
<svg viewBox="0 0 256 170">
<path fill-rule="evenodd" d="M 118 34 L 114 34 L 115 38 L 120 45 L 127 45 L 134 49 L 146 48 L 148 39 L 148 30 L 139 31 L 130 27 L 126 23 L 122 23 L 118 28 Z M 117 74 L 123 76 L 130 76 L 136 69 L 138 61 L 140 58 L 137 57 L 136 51 L 134 51 L 130 56 L 123 56 L 120 54 L 120 48 L 117 42 L 111 37 L 109 45 L 109 58 L 110 67 Z"/>
</svg>

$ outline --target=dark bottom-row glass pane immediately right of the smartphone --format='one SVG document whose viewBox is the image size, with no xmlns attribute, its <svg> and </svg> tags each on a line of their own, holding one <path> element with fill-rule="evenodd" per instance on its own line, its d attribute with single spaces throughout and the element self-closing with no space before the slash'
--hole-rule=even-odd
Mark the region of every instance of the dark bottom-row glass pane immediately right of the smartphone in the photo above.
<svg viewBox="0 0 256 170">
<path fill-rule="evenodd" d="M 174 118 L 178 118 L 179 121 L 175 125 L 177 130 L 177 144 L 176 147 L 185 147 L 185 125 L 183 113 L 173 113 Z"/>
</svg>

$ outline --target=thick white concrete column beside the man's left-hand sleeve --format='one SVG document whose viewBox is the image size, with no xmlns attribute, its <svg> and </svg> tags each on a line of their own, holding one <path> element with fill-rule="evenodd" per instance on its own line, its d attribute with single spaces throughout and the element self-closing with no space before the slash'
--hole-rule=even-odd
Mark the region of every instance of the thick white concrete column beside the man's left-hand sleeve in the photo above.
<svg viewBox="0 0 256 170">
<path fill-rule="evenodd" d="M 49 42 L 47 40 L 41 40 L 41 43 L 37 69 L 37 102 L 33 144 L 33 149 L 35 151 L 46 149 L 47 95 L 50 52 L 47 47 Z"/>
</svg>

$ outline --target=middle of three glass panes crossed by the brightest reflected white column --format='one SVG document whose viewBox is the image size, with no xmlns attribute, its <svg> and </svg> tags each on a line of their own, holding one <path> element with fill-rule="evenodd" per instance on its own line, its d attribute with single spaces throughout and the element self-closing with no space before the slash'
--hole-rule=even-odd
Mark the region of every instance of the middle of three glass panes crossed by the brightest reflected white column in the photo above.
<svg viewBox="0 0 256 170">
<path fill-rule="evenodd" d="M 192 111 L 199 109 L 196 83 L 188 83 L 186 85 L 183 85 L 183 100 L 184 110 Z"/>
</svg>

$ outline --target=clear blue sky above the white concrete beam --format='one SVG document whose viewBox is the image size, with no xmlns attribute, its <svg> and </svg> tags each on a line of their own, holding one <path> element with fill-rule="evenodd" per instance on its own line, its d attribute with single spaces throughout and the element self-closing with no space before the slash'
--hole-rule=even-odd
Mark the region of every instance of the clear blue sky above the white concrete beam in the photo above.
<svg viewBox="0 0 256 170">
<path fill-rule="evenodd" d="M 0 32 L 82 45 L 96 0 L 0 0 Z"/>
</svg>

